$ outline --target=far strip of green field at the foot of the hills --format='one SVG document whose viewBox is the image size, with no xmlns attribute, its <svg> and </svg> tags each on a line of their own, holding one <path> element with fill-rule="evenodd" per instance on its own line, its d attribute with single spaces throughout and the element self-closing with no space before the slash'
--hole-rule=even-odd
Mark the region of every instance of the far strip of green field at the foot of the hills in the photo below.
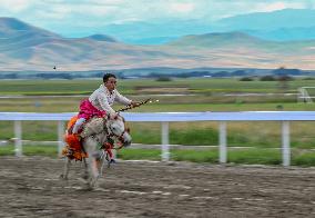
<svg viewBox="0 0 315 218">
<path fill-rule="evenodd" d="M 89 95 L 102 80 L 0 80 L 1 95 Z M 179 87 L 184 86 L 194 93 L 220 92 L 288 92 L 295 93 L 299 87 L 312 87 L 314 80 L 303 78 L 288 81 L 283 89 L 278 81 L 240 81 L 240 78 L 195 78 L 155 81 L 152 79 L 119 80 L 119 90 L 125 95 L 136 93 L 138 87 Z"/>
</svg>

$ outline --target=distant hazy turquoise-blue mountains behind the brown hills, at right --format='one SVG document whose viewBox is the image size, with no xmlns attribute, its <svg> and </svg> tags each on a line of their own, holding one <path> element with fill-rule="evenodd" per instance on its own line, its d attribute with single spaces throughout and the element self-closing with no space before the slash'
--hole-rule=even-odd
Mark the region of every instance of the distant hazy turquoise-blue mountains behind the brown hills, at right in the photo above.
<svg viewBox="0 0 315 218">
<path fill-rule="evenodd" d="M 185 34 L 231 31 L 242 31 L 265 40 L 293 41 L 315 39 L 315 24 L 311 22 L 312 20 L 315 20 L 315 10 L 284 9 L 238 14 L 216 21 L 203 19 L 130 21 L 105 24 L 101 29 L 124 42 L 138 44 L 161 44 Z"/>
</svg>

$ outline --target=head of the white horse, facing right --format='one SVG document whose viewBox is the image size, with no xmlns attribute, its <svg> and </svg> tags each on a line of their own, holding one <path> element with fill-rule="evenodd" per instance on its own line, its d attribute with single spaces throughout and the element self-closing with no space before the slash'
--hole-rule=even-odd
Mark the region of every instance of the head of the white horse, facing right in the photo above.
<svg viewBox="0 0 315 218">
<path fill-rule="evenodd" d="M 124 147 L 131 145 L 132 138 L 130 136 L 129 128 L 125 126 L 125 120 L 123 117 L 120 115 L 108 115 L 105 126 L 110 137 L 115 137 Z"/>
</svg>

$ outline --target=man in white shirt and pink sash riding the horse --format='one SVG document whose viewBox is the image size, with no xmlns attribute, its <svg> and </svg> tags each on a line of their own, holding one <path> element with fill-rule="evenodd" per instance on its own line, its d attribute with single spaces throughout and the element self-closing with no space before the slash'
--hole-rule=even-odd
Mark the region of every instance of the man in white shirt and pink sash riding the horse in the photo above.
<svg viewBox="0 0 315 218">
<path fill-rule="evenodd" d="M 113 73 L 105 73 L 103 76 L 103 83 L 96 89 L 89 99 L 80 103 L 79 115 L 75 117 L 75 122 L 69 128 L 68 140 L 81 141 L 80 132 L 84 122 L 93 117 L 110 116 L 114 118 L 118 113 L 112 109 L 113 103 L 118 101 L 130 107 L 138 107 L 140 102 L 132 101 L 122 96 L 116 90 L 116 77 Z M 109 145 L 113 147 L 113 145 Z"/>
</svg>

